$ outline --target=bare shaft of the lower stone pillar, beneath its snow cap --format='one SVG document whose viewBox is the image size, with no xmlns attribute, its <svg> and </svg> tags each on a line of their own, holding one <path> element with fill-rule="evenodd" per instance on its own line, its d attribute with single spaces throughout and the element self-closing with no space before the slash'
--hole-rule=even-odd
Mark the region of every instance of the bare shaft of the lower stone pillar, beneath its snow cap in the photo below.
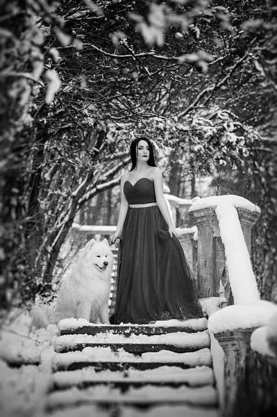
<svg viewBox="0 0 277 417">
<path fill-rule="evenodd" d="M 224 350 L 224 407 L 221 417 L 248 415 L 251 386 L 249 386 L 250 338 L 255 329 L 237 329 L 215 334 Z"/>
</svg>

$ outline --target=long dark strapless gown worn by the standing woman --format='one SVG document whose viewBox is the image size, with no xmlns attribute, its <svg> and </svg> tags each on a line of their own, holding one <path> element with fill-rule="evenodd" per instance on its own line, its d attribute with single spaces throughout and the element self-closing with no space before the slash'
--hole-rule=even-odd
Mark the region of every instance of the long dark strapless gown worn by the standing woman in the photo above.
<svg viewBox="0 0 277 417">
<path fill-rule="evenodd" d="M 149 178 L 124 183 L 129 204 L 156 202 Z M 203 317 L 196 280 L 158 206 L 128 208 L 121 233 L 113 324 Z"/>
</svg>

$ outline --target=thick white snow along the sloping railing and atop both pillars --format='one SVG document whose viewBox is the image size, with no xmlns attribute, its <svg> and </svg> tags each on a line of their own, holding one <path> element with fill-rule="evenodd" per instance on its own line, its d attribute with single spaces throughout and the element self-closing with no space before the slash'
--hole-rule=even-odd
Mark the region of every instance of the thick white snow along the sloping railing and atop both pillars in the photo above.
<svg viewBox="0 0 277 417">
<path fill-rule="evenodd" d="M 228 279 L 235 305 L 226 306 L 212 313 L 208 320 L 208 329 L 213 334 L 219 334 L 220 332 L 233 332 L 236 329 L 265 326 L 274 311 L 277 311 L 277 306 L 260 300 L 249 248 L 246 245 L 246 232 L 242 226 L 243 218 L 242 216 L 240 218 L 238 213 L 244 211 L 244 213 L 250 213 L 249 216 L 252 215 L 251 219 L 250 217 L 246 219 L 247 227 L 251 230 L 260 215 L 260 208 L 243 197 L 222 195 L 195 199 L 189 212 L 195 215 L 195 212 L 201 213 L 209 208 L 213 209 L 218 220 L 219 235 L 224 244 Z M 197 217 L 194 220 L 197 220 Z M 201 219 L 201 227 L 203 227 L 203 222 L 204 225 L 210 225 L 207 219 Z M 214 226 L 214 236 L 215 229 Z"/>
</svg>

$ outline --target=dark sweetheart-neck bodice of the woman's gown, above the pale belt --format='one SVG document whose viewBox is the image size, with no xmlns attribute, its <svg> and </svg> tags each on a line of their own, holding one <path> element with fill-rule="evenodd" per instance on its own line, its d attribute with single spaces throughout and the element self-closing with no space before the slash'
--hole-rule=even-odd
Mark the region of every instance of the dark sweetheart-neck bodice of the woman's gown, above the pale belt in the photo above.
<svg viewBox="0 0 277 417">
<path fill-rule="evenodd" d="M 142 177 L 134 185 L 127 180 L 123 190 L 129 204 L 156 203 L 154 183 L 149 178 Z"/>
</svg>

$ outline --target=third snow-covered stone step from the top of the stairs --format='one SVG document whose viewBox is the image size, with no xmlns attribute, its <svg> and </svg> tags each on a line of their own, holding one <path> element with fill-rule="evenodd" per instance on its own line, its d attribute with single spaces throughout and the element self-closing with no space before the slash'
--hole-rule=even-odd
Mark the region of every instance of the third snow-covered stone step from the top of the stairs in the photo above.
<svg viewBox="0 0 277 417">
<path fill-rule="evenodd" d="M 145 370 L 163 365 L 178 366 L 183 369 L 203 365 L 211 367 L 212 357 L 208 347 L 187 353 L 161 350 L 143 353 L 141 357 L 123 349 L 113 352 L 110 347 L 85 347 L 82 352 L 57 353 L 52 361 L 53 372 L 82 369 L 87 366 L 92 366 L 96 370 L 124 370 L 131 367 Z"/>
</svg>

